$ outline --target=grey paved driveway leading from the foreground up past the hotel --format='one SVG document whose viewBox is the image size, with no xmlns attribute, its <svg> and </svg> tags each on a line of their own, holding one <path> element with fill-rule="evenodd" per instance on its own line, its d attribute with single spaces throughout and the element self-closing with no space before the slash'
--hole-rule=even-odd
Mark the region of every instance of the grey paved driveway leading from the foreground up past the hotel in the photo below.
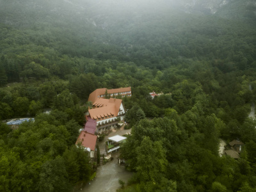
<svg viewBox="0 0 256 192">
<path fill-rule="evenodd" d="M 100 154 L 106 155 L 105 143 L 109 137 L 119 134 L 122 136 L 126 132 L 131 132 L 131 129 L 124 129 L 122 126 L 120 129 L 113 130 L 108 136 L 105 136 L 104 140 L 99 142 Z M 125 170 L 125 166 L 118 164 L 117 157 L 119 152 L 111 154 L 114 159 L 108 163 L 99 166 L 97 168 L 97 175 L 90 183 L 88 183 L 81 191 L 83 192 L 115 192 L 116 189 L 120 188 L 118 180 L 124 180 L 125 184 L 127 180 L 132 177 L 132 172 Z"/>
</svg>

